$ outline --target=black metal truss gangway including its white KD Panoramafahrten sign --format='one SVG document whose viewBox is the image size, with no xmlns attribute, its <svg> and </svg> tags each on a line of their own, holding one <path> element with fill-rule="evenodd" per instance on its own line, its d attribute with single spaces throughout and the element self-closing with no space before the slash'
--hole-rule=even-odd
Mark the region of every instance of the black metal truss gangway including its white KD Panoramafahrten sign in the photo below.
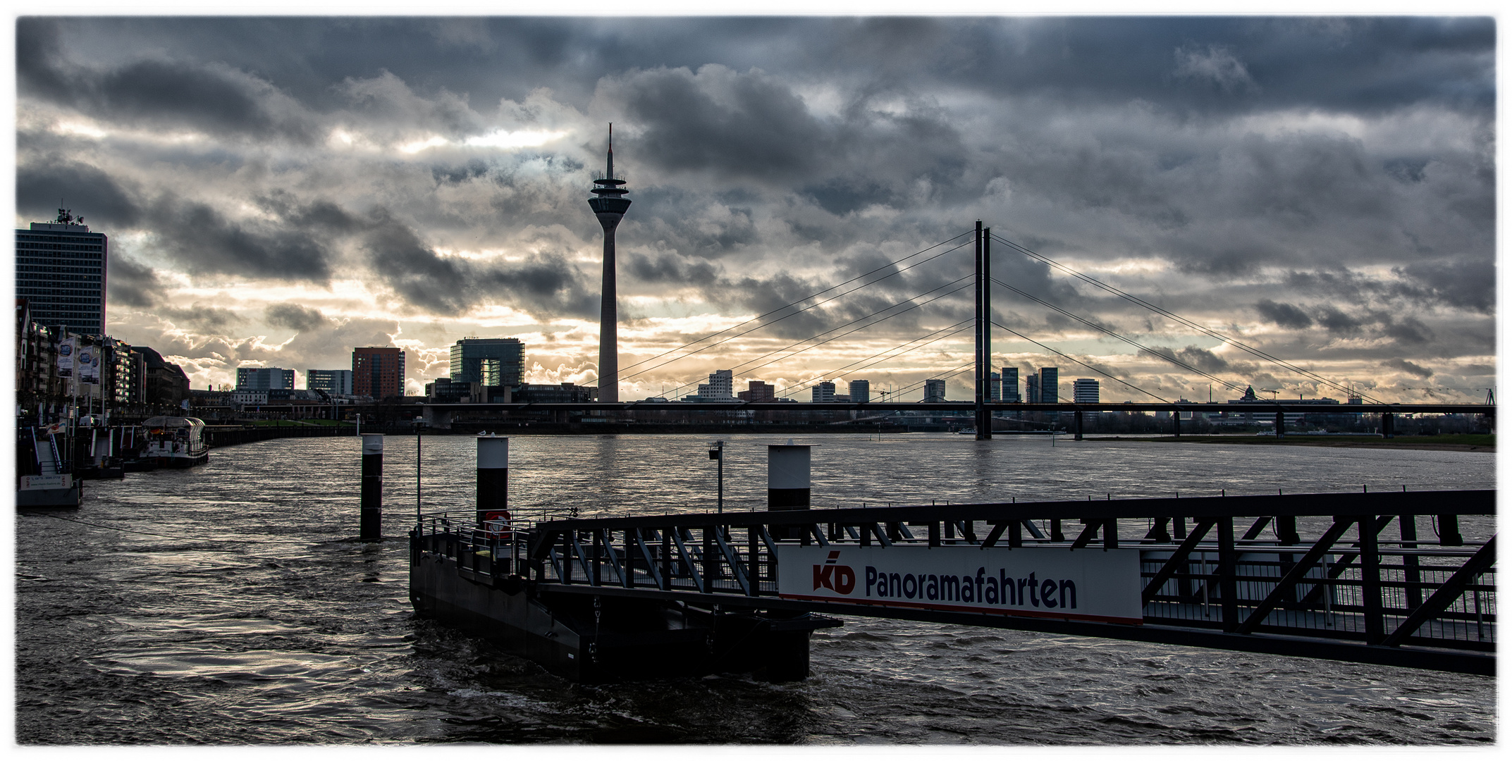
<svg viewBox="0 0 1512 761">
<path fill-rule="evenodd" d="M 511 595 L 1495 672 L 1494 490 L 469 517 L 423 516 L 417 561 Z"/>
</svg>

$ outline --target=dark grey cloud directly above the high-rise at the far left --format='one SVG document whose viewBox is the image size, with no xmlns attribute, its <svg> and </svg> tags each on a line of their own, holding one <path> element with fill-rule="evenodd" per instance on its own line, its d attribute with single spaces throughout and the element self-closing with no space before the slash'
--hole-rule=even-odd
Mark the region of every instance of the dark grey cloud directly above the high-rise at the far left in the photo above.
<svg viewBox="0 0 1512 761">
<path fill-rule="evenodd" d="M 79 209 L 92 225 L 130 227 L 141 219 L 136 191 L 129 191 L 98 166 L 57 156 L 17 166 L 17 212 L 44 221 L 53 218 L 59 204 Z"/>
</svg>

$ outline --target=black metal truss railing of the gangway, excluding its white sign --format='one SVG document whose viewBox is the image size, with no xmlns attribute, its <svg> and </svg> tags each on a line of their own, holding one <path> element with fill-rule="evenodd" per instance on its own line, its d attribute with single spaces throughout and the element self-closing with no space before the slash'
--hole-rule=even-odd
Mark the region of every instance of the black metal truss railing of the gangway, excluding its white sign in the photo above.
<svg viewBox="0 0 1512 761">
<path fill-rule="evenodd" d="M 1485 539 L 1464 539 L 1462 519 Z M 1494 520 L 1494 490 L 599 519 L 541 511 L 517 520 L 508 542 L 500 545 L 497 534 L 472 523 L 470 513 L 458 513 L 422 520 L 417 546 L 457 557 L 460 566 L 469 563 L 479 579 L 513 575 L 543 592 L 646 595 L 750 607 L 792 607 L 792 601 L 777 598 L 777 558 L 785 545 L 1009 551 L 1039 546 L 1087 552 L 1137 548 L 1143 625 L 1132 629 L 1143 629 L 1140 634 L 1119 634 L 1131 629 L 1125 625 L 1055 625 L 1012 613 L 969 619 L 1039 631 L 1222 641 L 1226 645 L 1213 646 L 1234 649 L 1247 649 L 1234 645 L 1235 638 L 1256 637 L 1302 645 L 1343 641 L 1371 649 L 1430 648 L 1485 654 L 1489 663 L 1497 643 Z M 930 617 L 874 605 L 807 607 L 969 622 L 960 614 Z M 1157 635 L 1161 631 L 1169 635 Z M 1194 632 L 1225 637 L 1204 638 Z M 1272 645 L 1256 648 L 1285 651 Z M 1364 660 L 1371 658 L 1396 663 L 1382 655 Z"/>
</svg>

